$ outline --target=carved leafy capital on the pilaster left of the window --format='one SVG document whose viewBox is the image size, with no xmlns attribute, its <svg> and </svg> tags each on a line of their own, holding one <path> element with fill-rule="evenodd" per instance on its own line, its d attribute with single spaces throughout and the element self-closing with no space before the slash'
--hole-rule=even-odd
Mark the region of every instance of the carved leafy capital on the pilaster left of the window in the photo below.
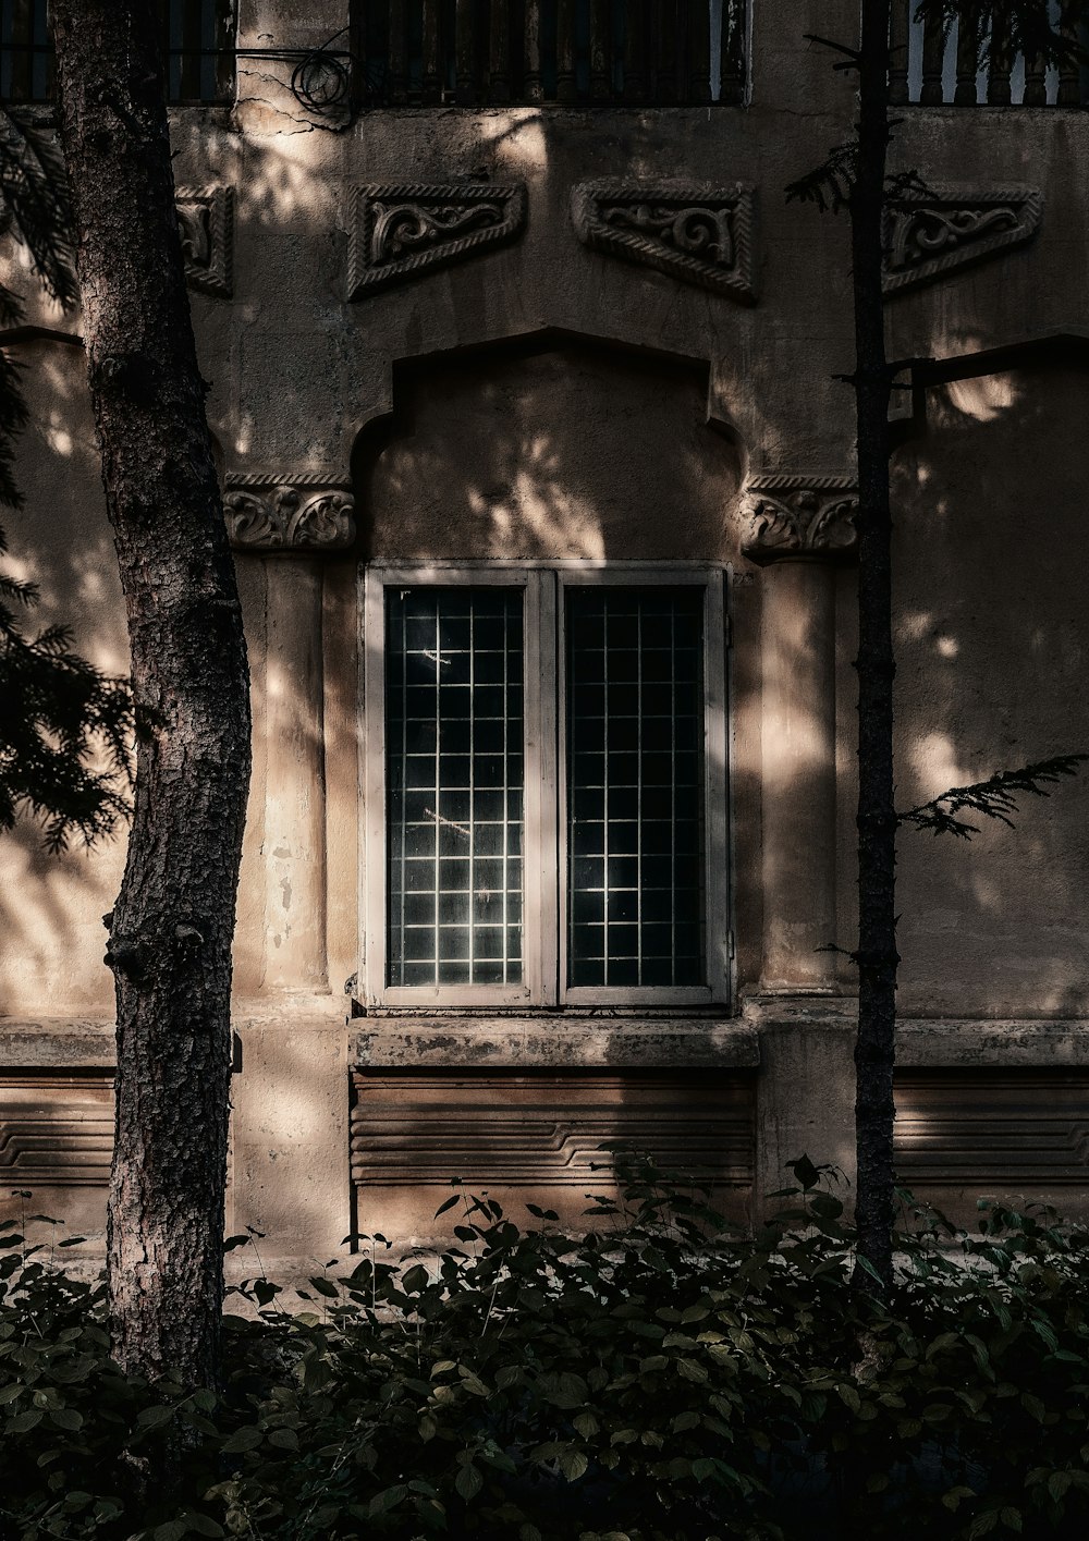
<svg viewBox="0 0 1089 1541">
<path fill-rule="evenodd" d="M 356 501 L 320 473 L 228 472 L 226 530 L 236 552 L 342 552 L 356 539 Z"/>
</svg>

